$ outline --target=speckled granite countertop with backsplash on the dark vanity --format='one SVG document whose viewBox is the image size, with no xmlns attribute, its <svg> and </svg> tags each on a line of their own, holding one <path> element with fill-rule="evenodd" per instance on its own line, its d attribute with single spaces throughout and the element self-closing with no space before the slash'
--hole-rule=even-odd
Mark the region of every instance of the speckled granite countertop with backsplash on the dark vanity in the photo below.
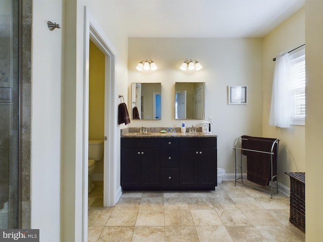
<svg viewBox="0 0 323 242">
<path fill-rule="evenodd" d="M 161 138 L 161 137 L 218 137 L 212 133 L 202 133 L 201 127 L 196 127 L 196 133 L 189 133 L 189 128 L 186 128 L 186 133 L 181 133 L 181 128 L 174 128 L 173 133 L 160 133 L 161 130 L 167 131 L 168 128 L 147 128 L 147 133 L 139 133 L 140 127 L 137 128 L 126 128 L 121 130 L 122 138 L 141 138 L 141 137 L 150 137 L 150 138 Z"/>
</svg>

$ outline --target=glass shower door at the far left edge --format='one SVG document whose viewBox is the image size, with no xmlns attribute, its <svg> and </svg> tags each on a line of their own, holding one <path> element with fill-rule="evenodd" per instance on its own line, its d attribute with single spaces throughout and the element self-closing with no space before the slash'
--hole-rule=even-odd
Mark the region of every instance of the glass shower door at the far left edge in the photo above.
<svg viewBox="0 0 323 242">
<path fill-rule="evenodd" d="M 18 228 L 19 1 L 0 1 L 0 229 Z"/>
</svg>

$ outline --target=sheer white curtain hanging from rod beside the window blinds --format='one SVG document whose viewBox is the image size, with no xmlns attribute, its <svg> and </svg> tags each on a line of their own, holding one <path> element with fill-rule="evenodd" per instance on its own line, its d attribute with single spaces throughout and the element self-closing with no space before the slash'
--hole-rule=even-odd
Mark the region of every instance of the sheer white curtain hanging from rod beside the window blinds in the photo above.
<svg viewBox="0 0 323 242">
<path fill-rule="evenodd" d="M 276 57 L 269 124 L 281 128 L 290 127 L 291 85 L 290 58 L 287 52 Z"/>
</svg>

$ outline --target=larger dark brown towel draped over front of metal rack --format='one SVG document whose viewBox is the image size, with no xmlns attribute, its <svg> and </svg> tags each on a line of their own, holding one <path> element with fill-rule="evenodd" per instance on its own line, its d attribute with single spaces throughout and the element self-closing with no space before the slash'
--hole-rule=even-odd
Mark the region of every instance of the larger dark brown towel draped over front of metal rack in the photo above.
<svg viewBox="0 0 323 242">
<path fill-rule="evenodd" d="M 271 152 L 273 141 L 266 138 L 248 138 L 247 149 Z M 275 160 L 273 157 L 273 165 Z M 273 168 L 276 170 L 276 168 Z M 247 179 L 260 186 L 269 184 L 271 177 L 271 155 L 247 151 Z"/>
</svg>

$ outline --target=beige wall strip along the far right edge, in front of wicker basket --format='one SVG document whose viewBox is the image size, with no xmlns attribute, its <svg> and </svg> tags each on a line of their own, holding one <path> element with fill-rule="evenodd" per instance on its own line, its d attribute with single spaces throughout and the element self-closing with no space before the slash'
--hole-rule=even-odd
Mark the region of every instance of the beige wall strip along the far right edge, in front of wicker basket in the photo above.
<svg viewBox="0 0 323 242">
<path fill-rule="evenodd" d="M 323 2 L 306 0 L 306 241 L 323 238 Z"/>
</svg>

